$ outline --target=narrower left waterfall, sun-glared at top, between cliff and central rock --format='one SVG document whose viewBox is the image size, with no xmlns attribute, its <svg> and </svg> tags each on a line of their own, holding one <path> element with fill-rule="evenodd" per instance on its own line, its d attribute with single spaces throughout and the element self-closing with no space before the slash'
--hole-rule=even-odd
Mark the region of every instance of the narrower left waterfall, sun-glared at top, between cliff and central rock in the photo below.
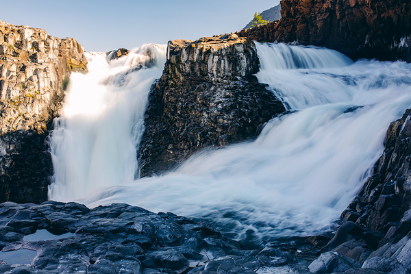
<svg viewBox="0 0 411 274">
<path fill-rule="evenodd" d="M 73 73 L 64 116 L 54 121 L 49 199 L 71 201 L 136 179 L 147 95 L 165 50 L 145 45 L 111 61 L 105 53 L 86 53 L 90 72 Z"/>
</svg>

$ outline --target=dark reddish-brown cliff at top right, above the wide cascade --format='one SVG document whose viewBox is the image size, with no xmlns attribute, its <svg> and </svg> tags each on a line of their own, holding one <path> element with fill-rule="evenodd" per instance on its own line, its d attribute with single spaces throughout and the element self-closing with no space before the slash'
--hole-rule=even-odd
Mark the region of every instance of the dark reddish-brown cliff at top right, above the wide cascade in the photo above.
<svg viewBox="0 0 411 274">
<path fill-rule="evenodd" d="M 280 21 L 238 36 L 323 46 L 351 58 L 411 61 L 410 1 L 283 0 L 281 6 Z"/>
</svg>

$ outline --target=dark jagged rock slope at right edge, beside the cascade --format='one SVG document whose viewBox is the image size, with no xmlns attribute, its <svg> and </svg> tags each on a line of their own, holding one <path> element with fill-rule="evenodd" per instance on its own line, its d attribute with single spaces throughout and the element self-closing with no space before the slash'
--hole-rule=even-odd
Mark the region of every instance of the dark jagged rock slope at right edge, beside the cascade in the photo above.
<svg viewBox="0 0 411 274">
<path fill-rule="evenodd" d="M 383 155 L 342 218 L 380 231 L 397 242 L 411 230 L 411 110 L 390 124 Z"/>
</svg>

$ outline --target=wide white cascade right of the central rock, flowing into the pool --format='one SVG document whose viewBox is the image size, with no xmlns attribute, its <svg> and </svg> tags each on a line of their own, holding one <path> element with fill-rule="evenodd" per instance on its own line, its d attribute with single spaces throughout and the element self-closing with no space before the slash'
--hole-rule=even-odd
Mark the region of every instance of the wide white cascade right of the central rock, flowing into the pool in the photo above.
<svg viewBox="0 0 411 274">
<path fill-rule="evenodd" d="M 121 177 L 110 187 L 97 180 L 92 194 L 81 191 L 60 199 L 210 217 L 237 238 L 250 232 L 267 239 L 328 229 L 370 175 L 389 123 L 410 107 L 411 65 L 353 63 L 336 51 L 314 47 L 257 44 L 257 49 L 259 81 L 295 112 L 272 119 L 254 142 L 203 151 L 161 177 Z M 108 111 L 102 113 L 105 117 Z M 90 138 L 86 131 L 79 134 Z M 92 138 L 102 138 L 98 134 Z M 64 169 L 63 174 L 73 175 L 67 164 Z"/>
</svg>

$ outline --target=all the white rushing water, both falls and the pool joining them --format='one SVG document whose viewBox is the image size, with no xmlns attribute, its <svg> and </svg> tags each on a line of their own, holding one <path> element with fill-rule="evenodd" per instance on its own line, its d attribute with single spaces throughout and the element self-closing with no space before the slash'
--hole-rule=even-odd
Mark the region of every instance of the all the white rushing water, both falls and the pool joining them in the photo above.
<svg viewBox="0 0 411 274">
<path fill-rule="evenodd" d="M 127 74 L 141 60 L 109 64 L 88 55 L 90 73 L 72 76 L 66 116 L 55 123 L 49 198 L 208 218 L 238 239 L 329 229 L 371 174 L 389 123 L 410 107 L 411 65 L 353 63 L 316 47 L 257 49 L 256 76 L 290 113 L 267 123 L 254 142 L 203 151 L 173 172 L 142 179 L 135 179 L 136 146 L 164 58 Z"/>
</svg>

